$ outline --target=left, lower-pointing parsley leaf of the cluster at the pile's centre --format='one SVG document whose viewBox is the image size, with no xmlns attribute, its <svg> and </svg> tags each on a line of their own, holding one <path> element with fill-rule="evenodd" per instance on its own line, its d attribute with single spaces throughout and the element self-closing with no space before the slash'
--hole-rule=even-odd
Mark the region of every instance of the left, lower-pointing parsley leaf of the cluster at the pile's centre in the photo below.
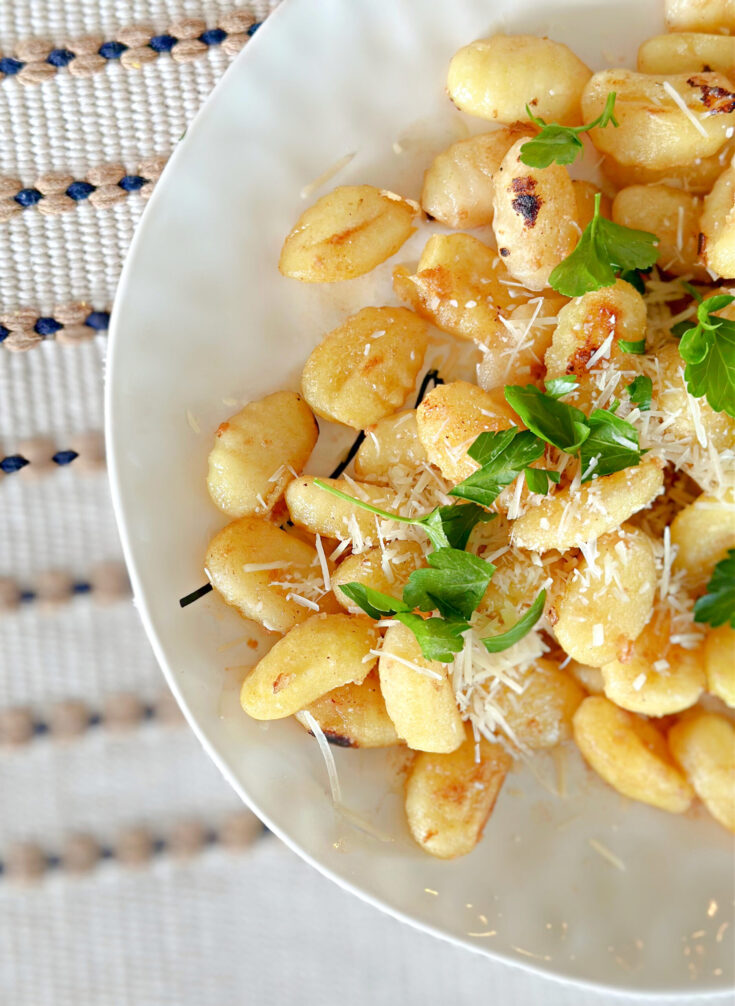
<svg viewBox="0 0 735 1006">
<path fill-rule="evenodd" d="M 528 430 L 481 434 L 468 451 L 482 468 L 449 491 L 450 496 L 491 506 L 521 472 L 544 453 L 544 445 Z"/>
</svg>

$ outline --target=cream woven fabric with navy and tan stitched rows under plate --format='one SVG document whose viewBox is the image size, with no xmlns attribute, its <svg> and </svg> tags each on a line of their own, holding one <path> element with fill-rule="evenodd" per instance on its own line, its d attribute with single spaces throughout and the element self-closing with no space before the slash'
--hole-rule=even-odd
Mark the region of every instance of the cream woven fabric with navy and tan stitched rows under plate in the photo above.
<svg viewBox="0 0 735 1006">
<path fill-rule="evenodd" d="M 0 1003 L 602 1002 L 398 926 L 246 817 L 233 833 L 104 565 L 105 313 L 162 161 L 273 6 L 0 0 Z"/>
</svg>

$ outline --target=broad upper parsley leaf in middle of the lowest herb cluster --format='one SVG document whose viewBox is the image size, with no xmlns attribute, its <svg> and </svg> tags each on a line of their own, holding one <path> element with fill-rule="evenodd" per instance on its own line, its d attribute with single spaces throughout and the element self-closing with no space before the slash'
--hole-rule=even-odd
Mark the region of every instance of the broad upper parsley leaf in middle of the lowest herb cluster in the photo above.
<svg viewBox="0 0 735 1006">
<path fill-rule="evenodd" d="M 422 612 L 435 609 L 447 619 L 469 619 L 495 572 L 493 563 L 458 548 L 439 548 L 426 561 L 429 568 L 414 569 L 408 577 L 405 604 Z"/>
</svg>

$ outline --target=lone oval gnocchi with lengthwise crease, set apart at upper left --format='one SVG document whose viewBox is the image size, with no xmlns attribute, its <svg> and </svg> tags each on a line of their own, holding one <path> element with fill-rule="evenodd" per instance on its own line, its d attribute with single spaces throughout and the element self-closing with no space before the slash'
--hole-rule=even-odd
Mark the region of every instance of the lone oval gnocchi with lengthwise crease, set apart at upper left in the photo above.
<svg viewBox="0 0 735 1006">
<path fill-rule="evenodd" d="M 416 203 L 372 185 L 340 185 L 297 220 L 279 269 L 303 283 L 336 283 L 369 273 L 413 233 Z"/>
</svg>

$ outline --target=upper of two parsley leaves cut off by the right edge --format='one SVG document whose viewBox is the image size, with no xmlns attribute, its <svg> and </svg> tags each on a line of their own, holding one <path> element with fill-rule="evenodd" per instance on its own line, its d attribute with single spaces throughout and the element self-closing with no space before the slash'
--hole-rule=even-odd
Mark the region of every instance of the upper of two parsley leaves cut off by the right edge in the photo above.
<svg viewBox="0 0 735 1006">
<path fill-rule="evenodd" d="M 702 301 L 697 325 L 682 335 L 679 353 L 687 364 L 684 379 L 689 393 L 705 396 L 716 412 L 735 418 L 735 322 L 714 314 L 733 301 L 735 297 L 728 294 Z"/>
</svg>

